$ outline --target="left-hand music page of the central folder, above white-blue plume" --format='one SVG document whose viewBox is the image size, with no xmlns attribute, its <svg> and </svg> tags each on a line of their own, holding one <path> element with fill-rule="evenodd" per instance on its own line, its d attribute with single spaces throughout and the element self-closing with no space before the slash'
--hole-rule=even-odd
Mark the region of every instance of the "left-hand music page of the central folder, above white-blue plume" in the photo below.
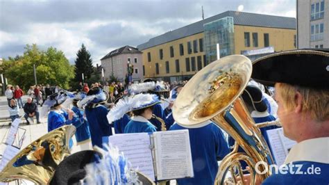
<svg viewBox="0 0 329 185">
<path fill-rule="evenodd" d="M 124 152 L 133 168 L 155 181 L 153 159 L 150 149 L 150 136 L 148 133 L 116 134 L 109 137 L 109 143 Z"/>
</svg>

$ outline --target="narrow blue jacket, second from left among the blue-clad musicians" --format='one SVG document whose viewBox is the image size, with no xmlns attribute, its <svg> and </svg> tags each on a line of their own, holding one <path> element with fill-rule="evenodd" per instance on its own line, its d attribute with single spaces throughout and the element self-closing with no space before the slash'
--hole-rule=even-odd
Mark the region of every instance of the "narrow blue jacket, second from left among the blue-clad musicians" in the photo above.
<svg viewBox="0 0 329 185">
<path fill-rule="evenodd" d="M 73 123 L 76 127 L 76 141 L 81 142 L 90 139 L 89 123 L 83 118 L 83 111 L 80 111 L 76 106 L 72 107 L 72 111 L 74 111 L 77 117 L 77 121 Z"/>
</svg>

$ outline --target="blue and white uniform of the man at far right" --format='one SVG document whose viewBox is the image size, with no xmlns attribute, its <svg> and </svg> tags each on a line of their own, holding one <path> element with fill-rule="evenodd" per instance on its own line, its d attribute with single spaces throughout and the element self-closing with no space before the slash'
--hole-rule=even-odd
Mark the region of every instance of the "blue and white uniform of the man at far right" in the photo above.
<svg viewBox="0 0 329 185">
<path fill-rule="evenodd" d="M 303 140 L 294 145 L 285 164 L 288 170 L 278 170 L 262 184 L 329 184 L 329 137 Z"/>
</svg>

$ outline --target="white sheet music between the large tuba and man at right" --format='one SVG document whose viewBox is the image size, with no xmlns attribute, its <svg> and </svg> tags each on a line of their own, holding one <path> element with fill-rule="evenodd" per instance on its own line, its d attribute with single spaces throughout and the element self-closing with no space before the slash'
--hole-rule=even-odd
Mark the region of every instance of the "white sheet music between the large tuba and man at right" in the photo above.
<svg viewBox="0 0 329 185">
<path fill-rule="evenodd" d="M 267 136 L 269 137 L 269 143 L 276 164 L 281 166 L 285 162 L 289 150 L 296 144 L 296 141 L 285 137 L 282 128 L 268 130 Z"/>
</svg>

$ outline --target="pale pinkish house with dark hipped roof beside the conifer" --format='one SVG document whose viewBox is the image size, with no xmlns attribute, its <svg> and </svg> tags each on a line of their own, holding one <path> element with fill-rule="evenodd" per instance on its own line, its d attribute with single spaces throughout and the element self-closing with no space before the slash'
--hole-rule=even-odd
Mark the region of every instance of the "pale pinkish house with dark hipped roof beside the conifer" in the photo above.
<svg viewBox="0 0 329 185">
<path fill-rule="evenodd" d="M 135 47 L 124 46 L 110 51 L 101 58 L 101 66 L 104 69 L 104 77 L 110 79 L 113 75 L 119 81 L 126 78 L 128 64 L 133 65 L 133 81 L 143 79 L 142 52 Z"/>
</svg>

